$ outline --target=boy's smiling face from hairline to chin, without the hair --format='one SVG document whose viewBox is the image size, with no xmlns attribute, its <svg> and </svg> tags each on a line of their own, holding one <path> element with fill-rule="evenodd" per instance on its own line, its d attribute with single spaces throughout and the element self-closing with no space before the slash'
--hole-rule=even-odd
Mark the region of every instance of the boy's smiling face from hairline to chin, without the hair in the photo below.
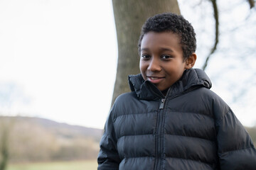
<svg viewBox="0 0 256 170">
<path fill-rule="evenodd" d="M 139 69 L 143 79 L 151 81 L 160 91 L 168 89 L 188 69 L 180 38 L 175 33 L 146 33 L 140 54 Z"/>
</svg>

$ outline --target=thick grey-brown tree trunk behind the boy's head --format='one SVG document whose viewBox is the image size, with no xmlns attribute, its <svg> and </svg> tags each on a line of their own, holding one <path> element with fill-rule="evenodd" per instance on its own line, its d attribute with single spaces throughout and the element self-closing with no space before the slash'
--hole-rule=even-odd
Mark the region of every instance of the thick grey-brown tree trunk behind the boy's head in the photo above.
<svg viewBox="0 0 256 170">
<path fill-rule="evenodd" d="M 142 25 L 156 13 L 180 14 L 177 0 L 112 0 L 117 29 L 118 62 L 112 104 L 119 94 L 130 91 L 129 74 L 139 73 L 137 43 Z"/>
</svg>

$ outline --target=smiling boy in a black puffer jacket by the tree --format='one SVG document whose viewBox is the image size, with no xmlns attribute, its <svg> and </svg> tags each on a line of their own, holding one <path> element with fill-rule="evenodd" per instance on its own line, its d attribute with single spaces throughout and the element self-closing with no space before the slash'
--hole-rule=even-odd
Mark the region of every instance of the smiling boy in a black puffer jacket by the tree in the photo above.
<svg viewBox="0 0 256 170">
<path fill-rule="evenodd" d="M 100 142 L 98 169 L 256 169 L 250 136 L 210 91 L 196 37 L 174 13 L 149 18 L 139 38 L 141 74 L 120 95 Z"/>
</svg>

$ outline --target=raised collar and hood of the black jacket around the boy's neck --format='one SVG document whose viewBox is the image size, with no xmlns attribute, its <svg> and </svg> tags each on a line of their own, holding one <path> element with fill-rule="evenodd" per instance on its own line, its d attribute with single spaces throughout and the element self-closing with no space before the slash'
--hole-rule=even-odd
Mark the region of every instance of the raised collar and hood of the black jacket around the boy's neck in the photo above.
<svg viewBox="0 0 256 170">
<path fill-rule="evenodd" d="M 168 96 L 178 95 L 198 89 L 199 87 L 211 88 L 211 81 L 202 69 L 186 69 L 181 79 L 176 81 Z M 129 86 L 131 91 L 135 91 L 140 99 L 156 100 L 164 95 L 150 81 L 144 81 L 142 74 L 129 75 Z"/>
</svg>

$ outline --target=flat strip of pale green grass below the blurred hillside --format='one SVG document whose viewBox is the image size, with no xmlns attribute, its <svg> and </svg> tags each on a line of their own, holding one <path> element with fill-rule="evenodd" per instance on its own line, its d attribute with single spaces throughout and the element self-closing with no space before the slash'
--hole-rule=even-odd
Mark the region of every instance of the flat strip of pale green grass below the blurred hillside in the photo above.
<svg viewBox="0 0 256 170">
<path fill-rule="evenodd" d="M 96 160 L 9 164 L 6 170 L 95 170 Z"/>
</svg>

